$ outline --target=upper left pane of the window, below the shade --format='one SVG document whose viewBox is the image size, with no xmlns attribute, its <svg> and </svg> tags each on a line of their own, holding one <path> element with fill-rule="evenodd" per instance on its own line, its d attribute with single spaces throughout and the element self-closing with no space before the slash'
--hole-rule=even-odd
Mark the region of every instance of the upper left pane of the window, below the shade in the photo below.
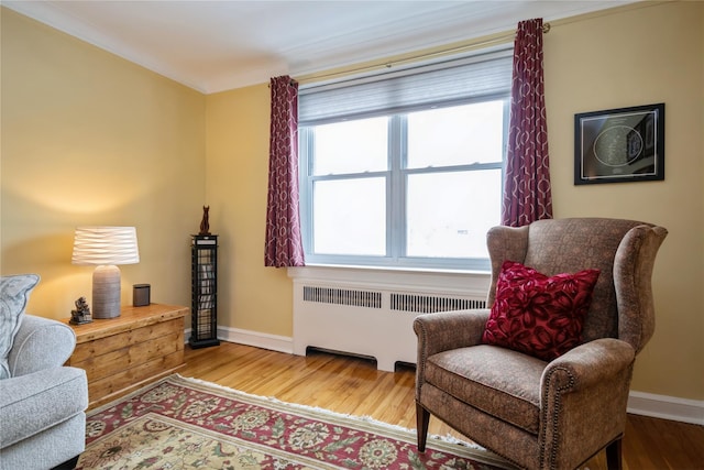
<svg viewBox="0 0 704 470">
<path fill-rule="evenodd" d="M 314 175 L 386 171 L 387 133 L 385 117 L 317 125 Z"/>
</svg>

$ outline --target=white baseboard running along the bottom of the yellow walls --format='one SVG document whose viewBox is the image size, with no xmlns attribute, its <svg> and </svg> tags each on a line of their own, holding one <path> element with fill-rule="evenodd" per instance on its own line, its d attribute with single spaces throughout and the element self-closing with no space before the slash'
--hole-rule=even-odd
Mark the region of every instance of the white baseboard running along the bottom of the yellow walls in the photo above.
<svg viewBox="0 0 704 470">
<path fill-rule="evenodd" d="M 190 329 L 186 330 L 184 337 L 188 342 Z M 286 336 L 218 327 L 218 339 L 287 354 L 294 353 L 294 339 Z M 704 426 L 704 401 L 701 400 L 631 391 L 628 396 L 628 413 Z"/>
</svg>

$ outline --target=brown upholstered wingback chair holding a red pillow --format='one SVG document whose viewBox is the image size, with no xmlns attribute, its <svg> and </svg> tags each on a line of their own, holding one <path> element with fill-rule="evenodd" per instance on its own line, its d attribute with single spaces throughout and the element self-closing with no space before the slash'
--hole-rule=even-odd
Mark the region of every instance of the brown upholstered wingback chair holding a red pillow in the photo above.
<svg viewBox="0 0 704 470">
<path fill-rule="evenodd" d="M 419 449 L 432 414 L 521 468 L 573 469 L 606 448 L 609 469 L 619 469 L 635 358 L 654 329 L 651 273 L 667 233 L 596 218 L 491 229 L 488 308 L 421 315 L 414 324 Z M 501 316 L 528 305 L 528 291 L 556 285 L 554 305 L 572 305 L 581 331 L 559 323 L 550 331 L 525 311 L 522 324 Z M 526 308 L 549 310 L 546 295 Z M 528 328 L 536 324 L 540 331 Z M 546 335 L 562 349 L 546 347 Z"/>
</svg>

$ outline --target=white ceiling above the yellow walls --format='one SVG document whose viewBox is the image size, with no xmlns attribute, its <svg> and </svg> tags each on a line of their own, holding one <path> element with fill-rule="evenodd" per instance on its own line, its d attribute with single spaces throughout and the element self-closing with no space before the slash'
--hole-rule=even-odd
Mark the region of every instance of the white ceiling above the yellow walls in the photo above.
<svg viewBox="0 0 704 470">
<path fill-rule="evenodd" d="M 636 0 L 10 1 L 2 4 L 210 94 L 510 31 Z"/>
</svg>

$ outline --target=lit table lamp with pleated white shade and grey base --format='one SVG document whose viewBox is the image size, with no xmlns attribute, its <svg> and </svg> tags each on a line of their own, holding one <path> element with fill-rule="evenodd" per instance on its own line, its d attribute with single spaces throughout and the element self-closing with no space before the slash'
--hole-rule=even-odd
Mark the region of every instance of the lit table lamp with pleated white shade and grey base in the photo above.
<svg viewBox="0 0 704 470">
<path fill-rule="evenodd" d="M 92 317 L 120 316 L 120 269 L 140 262 L 134 227 L 77 227 L 72 263 L 96 265 L 92 273 Z"/>
</svg>

